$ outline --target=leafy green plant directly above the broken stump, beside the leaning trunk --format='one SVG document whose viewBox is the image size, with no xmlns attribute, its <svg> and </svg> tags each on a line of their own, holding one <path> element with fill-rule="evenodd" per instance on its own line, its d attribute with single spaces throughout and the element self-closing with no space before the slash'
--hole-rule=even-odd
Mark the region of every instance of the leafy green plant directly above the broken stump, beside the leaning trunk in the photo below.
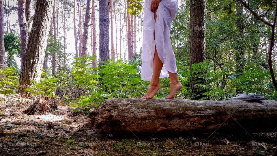
<svg viewBox="0 0 277 156">
<path fill-rule="evenodd" d="M 33 84 L 29 88 L 26 88 L 24 91 L 29 92 L 33 96 L 49 96 L 50 98 L 55 97 L 55 89 L 57 88 L 57 83 L 59 83 L 58 78 L 48 76 L 42 78 L 40 82 L 30 80 Z"/>
</svg>

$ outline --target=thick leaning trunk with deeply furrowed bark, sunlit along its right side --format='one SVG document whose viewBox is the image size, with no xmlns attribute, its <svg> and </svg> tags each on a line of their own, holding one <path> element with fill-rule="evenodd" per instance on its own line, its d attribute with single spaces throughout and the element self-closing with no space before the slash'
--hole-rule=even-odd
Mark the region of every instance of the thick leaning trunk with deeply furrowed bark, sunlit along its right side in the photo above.
<svg viewBox="0 0 277 156">
<path fill-rule="evenodd" d="M 40 81 L 47 37 L 53 13 L 53 0 L 37 0 L 35 16 L 30 33 L 22 70 L 20 71 L 19 94 L 29 96 L 24 88 L 31 86 L 31 80 Z"/>
</svg>

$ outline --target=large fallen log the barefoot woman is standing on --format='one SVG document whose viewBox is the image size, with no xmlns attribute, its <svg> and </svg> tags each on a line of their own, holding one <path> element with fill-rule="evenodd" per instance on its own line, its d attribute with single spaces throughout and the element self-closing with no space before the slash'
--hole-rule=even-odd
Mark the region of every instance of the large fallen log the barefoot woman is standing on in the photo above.
<svg viewBox="0 0 277 156">
<path fill-rule="evenodd" d="M 105 100 L 90 113 L 90 126 L 105 136 L 272 132 L 277 127 L 276 112 L 277 102 L 267 100 L 114 98 Z"/>
</svg>

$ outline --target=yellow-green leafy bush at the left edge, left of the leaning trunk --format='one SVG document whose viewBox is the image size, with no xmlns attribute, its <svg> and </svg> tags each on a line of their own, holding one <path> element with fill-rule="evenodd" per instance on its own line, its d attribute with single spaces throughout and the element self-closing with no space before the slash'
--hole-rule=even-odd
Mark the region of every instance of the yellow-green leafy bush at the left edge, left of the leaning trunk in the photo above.
<svg viewBox="0 0 277 156">
<path fill-rule="evenodd" d="M 18 80 L 14 67 L 0 68 L 0 93 L 4 95 L 12 94 L 19 86 Z"/>
</svg>

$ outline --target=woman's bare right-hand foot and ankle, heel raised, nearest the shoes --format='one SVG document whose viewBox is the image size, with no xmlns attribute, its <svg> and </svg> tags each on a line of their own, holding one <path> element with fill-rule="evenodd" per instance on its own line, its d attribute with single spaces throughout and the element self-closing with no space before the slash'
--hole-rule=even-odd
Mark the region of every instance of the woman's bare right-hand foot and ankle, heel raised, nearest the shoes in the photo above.
<svg viewBox="0 0 277 156">
<path fill-rule="evenodd" d="M 172 99 L 174 97 L 174 95 L 176 94 L 176 92 L 178 92 L 181 88 L 182 88 L 182 84 L 179 82 L 177 73 L 171 73 L 169 71 L 167 71 L 170 77 L 170 93 L 168 96 L 166 96 L 166 99 Z"/>
</svg>

